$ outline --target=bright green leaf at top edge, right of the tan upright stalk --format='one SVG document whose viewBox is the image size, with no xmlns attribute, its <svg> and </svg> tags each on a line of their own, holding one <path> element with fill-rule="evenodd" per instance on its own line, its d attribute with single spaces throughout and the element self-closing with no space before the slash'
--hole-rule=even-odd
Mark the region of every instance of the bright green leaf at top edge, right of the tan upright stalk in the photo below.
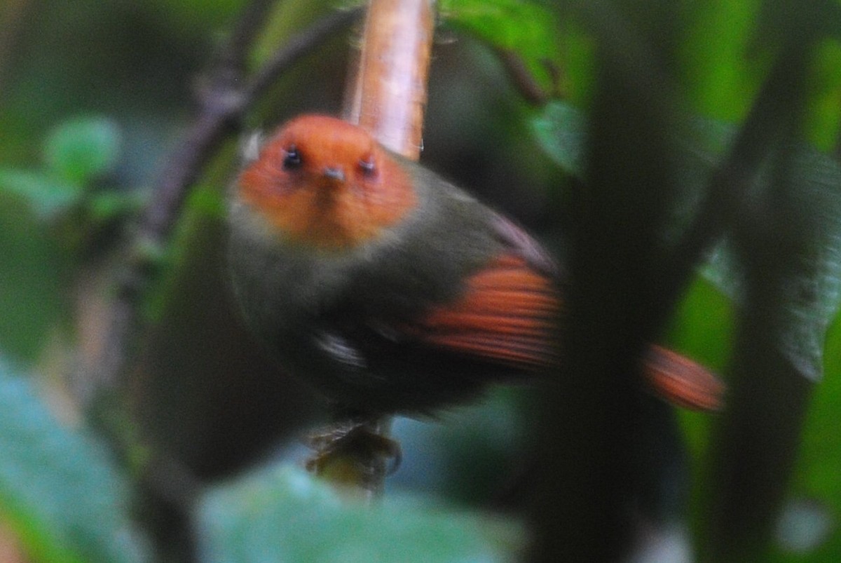
<svg viewBox="0 0 841 563">
<path fill-rule="evenodd" d="M 442 0 L 439 8 L 448 24 L 516 55 L 544 92 L 555 92 L 561 48 L 551 10 L 526 0 Z"/>
</svg>

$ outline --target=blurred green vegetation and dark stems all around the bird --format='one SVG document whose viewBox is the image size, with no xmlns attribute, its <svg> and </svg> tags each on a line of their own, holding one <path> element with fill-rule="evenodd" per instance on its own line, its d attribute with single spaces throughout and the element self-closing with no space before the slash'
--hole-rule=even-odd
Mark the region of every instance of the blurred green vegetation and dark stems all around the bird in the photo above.
<svg viewBox="0 0 841 563">
<path fill-rule="evenodd" d="M 244 77 L 352 3 L 262 4 Z M 224 120 L 138 242 L 246 3 L 0 3 L 0 558 L 838 560 L 841 5 L 439 8 L 421 161 L 563 258 L 569 361 L 397 421 L 368 508 L 297 469 L 324 404 L 251 342 L 224 266 L 242 135 L 340 111 L 352 16 Z M 121 302 L 114 382 L 92 366 Z M 647 341 L 722 374 L 725 410 L 639 389 Z"/>
</svg>

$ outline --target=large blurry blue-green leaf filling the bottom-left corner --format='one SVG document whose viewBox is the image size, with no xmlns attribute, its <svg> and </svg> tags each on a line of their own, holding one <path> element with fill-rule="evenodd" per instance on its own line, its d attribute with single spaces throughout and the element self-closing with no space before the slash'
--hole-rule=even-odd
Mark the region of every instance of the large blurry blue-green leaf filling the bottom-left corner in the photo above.
<svg viewBox="0 0 841 563">
<path fill-rule="evenodd" d="M 146 560 L 128 501 L 102 446 L 61 426 L 0 362 L 0 513 L 34 560 Z"/>
</svg>

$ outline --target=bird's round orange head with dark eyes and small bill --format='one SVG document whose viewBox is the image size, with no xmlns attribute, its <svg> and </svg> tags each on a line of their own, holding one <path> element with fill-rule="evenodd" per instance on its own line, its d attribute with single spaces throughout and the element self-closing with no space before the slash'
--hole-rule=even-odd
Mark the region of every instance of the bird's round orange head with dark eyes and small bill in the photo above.
<svg viewBox="0 0 841 563">
<path fill-rule="evenodd" d="M 241 199 L 290 241 L 337 250 L 415 207 L 409 174 L 367 131 L 325 115 L 289 121 L 241 174 Z"/>
</svg>

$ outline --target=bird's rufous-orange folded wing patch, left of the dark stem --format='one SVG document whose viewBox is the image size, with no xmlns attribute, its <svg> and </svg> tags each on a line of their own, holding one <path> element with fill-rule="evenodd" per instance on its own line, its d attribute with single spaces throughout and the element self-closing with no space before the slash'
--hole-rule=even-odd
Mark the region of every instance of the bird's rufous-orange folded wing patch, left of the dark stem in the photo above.
<svg viewBox="0 0 841 563">
<path fill-rule="evenodd" d="M 561 300 L 550 279 L 505 255 L 473 274 L 463 295 L 408 329 L 421 341 L 517 369 L 558 363 Z"/>
</svg>

